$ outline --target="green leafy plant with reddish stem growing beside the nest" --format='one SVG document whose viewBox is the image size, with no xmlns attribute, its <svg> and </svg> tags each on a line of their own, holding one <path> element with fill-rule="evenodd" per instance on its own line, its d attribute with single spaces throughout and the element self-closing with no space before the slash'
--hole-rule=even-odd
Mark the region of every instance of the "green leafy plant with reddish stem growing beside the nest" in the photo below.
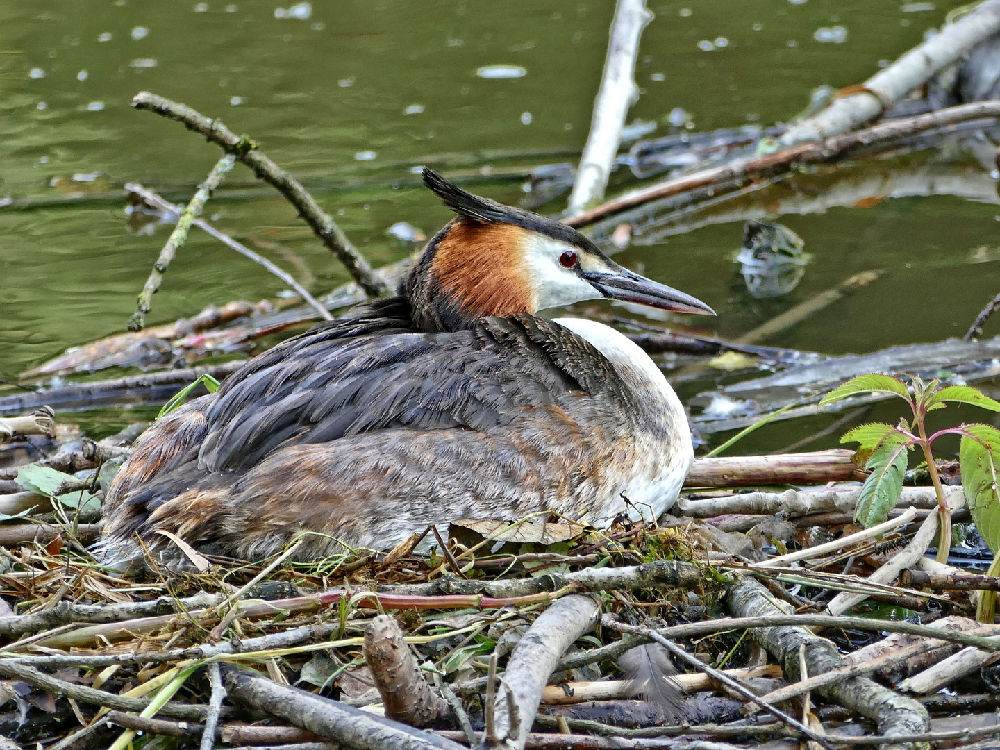
<svg viewBox="0 0 1000 750">
<path fill-rule="evenodd" d="M 855 520 L 869 528 L 888 518 L 902 494 L 910 452 L 919 450 L 937 493 L 940 513 L 937 560 L 945 562 L 951 551 L 951 510 L 931 446 L 942 435 L 959 435 L 962 489 L 972 520 L 993 551 L 990 575 L 996 575 L 1000 572 L 1000 430 L 987 424 L 961 424 L 928 435 L 925 422 L 929 412 L 944 409 L 948 404 L 970 404 L 1000 412 L 1000 403 L 967 385 L 942 386 L 937 380 L 924 383 L 911 376 L 908 387 L 899 378 L 888 375 L 859 375 L 826 394 L 820 405 L 865 393 L 899 396 L 909 405 L 912 419 L 901 419 L 897 425 L 863 424 L 840 439 L 842 443 L 859 443 L 859 457 L 871 472 L 861 487 Z"/>
</svg>

